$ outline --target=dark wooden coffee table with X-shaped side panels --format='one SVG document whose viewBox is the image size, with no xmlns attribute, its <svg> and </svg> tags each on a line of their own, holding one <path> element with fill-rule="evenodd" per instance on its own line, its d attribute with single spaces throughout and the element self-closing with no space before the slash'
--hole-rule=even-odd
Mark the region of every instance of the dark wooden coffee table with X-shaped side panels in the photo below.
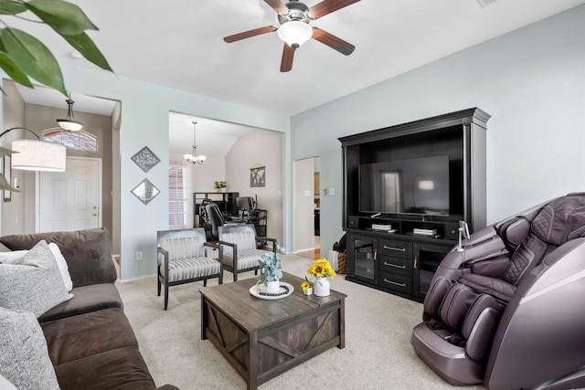
<svg viewBox="0 0 585 390">
<path fill-rule="evenodd" d="M 306 296 L 303 279 L 286 272 L 293 293 L 280 300 L 250 294 L 257 278 L 201 289 L 201 339 L 209 339 L 248 389 L 302 364 L 319 353 L 346 345 L 346 294 Z"/>
</svg>

